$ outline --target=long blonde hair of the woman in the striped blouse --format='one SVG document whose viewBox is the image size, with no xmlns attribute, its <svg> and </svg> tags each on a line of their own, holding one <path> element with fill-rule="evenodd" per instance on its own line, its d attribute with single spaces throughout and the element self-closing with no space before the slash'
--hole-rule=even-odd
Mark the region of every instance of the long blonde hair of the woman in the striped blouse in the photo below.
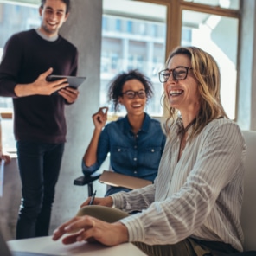
<svg viewBox="0 0 256 256">
<path fill-rule="evenodd" d="M 166 61 L 166 67 L 170 60 L 177 54 L 185 54 L 191 61 L 191 67 L 195 79 L 198 81 L 198 90 L 201 95 L 200 110 L 195 118 L 195 125 L 191 137 L 200 133 L 202 129 L 214 119 L 227 117 L 227 113 L 221 104 L 221 73 L 218 64 L 211 54 L 201 48 L 178 47 L 172 51 Z M 168 113 L 165 122 L 165 129 L 170 131 L 178 117 L 178 111 L 171 107 L 167 95 L 163 95 L 163 106 L 165 113 Z"/>
</svg>

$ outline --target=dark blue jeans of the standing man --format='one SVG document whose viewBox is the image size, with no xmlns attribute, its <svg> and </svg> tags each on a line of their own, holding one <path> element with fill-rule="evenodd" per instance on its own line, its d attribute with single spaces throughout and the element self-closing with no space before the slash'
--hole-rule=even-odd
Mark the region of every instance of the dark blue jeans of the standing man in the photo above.
<svg viewBox="0 0 256 256">
<path fill-rule="evenodd" d="M 22 180 L 16 238 L 46 236 L 64 144 L 17 141 L 16 147 Z"/>
</svg>

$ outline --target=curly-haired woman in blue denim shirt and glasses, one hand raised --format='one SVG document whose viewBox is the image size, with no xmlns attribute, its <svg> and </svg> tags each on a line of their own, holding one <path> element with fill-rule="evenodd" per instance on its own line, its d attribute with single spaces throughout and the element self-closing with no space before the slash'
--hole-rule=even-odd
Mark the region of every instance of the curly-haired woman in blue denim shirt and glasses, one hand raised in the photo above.
<svg viewBox="0 0 256 256">
<path fill-rule="evenodd" d="M 85 175 L 99 170 L 110 153 L 113 171 L 154 181 L 163 153 L 165 135 L 160 122 L 144 112 L 152 95 L 150 80 L 138 70 L 118 74 L 111 81 L 109 101 L 112 101 L 115 112 L 120 106 L 124 106 L 127 114 L 125 118 L 118 118 L 107 125 L 107 107 L 100 107 L 93 114 L 93 137 L 82 161 Z M 129 190 L 110 187 L 106 195 Z"/>
</svg>

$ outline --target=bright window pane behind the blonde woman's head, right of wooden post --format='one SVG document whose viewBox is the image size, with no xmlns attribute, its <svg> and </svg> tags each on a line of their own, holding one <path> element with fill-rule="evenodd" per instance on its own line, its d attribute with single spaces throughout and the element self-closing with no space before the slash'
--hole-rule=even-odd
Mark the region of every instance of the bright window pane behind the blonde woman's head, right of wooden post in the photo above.
<svg viewBox="0 0 256 256">
<path fill-rule="evenodd" d="M 238 27 L 237 18 L 182 10 L 181 44 L 197 46 L 214 56 L 221 69 L 222 104 L 232 119 L 235 118 Z"/>
</svg>

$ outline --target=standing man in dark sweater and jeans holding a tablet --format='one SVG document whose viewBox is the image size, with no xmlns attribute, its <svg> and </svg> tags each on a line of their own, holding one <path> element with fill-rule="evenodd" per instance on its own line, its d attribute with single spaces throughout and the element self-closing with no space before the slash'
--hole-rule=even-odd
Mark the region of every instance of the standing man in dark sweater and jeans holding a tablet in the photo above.
<svg viewBox="0 0 256 256">
<path fill-rule="evenodd" d="M 0 64 L 0 95 L 13 98 L 22 180 L 17 239 L 48 235 L 66 142 L 64 106 L 79 94 L 66 79 L 47 81 L 49 74 L 77 72 L 77 48 L 59 35 L 69 8 L 69 0 L 42 0 L 40 28 L 12 35 Z"/>
</svg>

